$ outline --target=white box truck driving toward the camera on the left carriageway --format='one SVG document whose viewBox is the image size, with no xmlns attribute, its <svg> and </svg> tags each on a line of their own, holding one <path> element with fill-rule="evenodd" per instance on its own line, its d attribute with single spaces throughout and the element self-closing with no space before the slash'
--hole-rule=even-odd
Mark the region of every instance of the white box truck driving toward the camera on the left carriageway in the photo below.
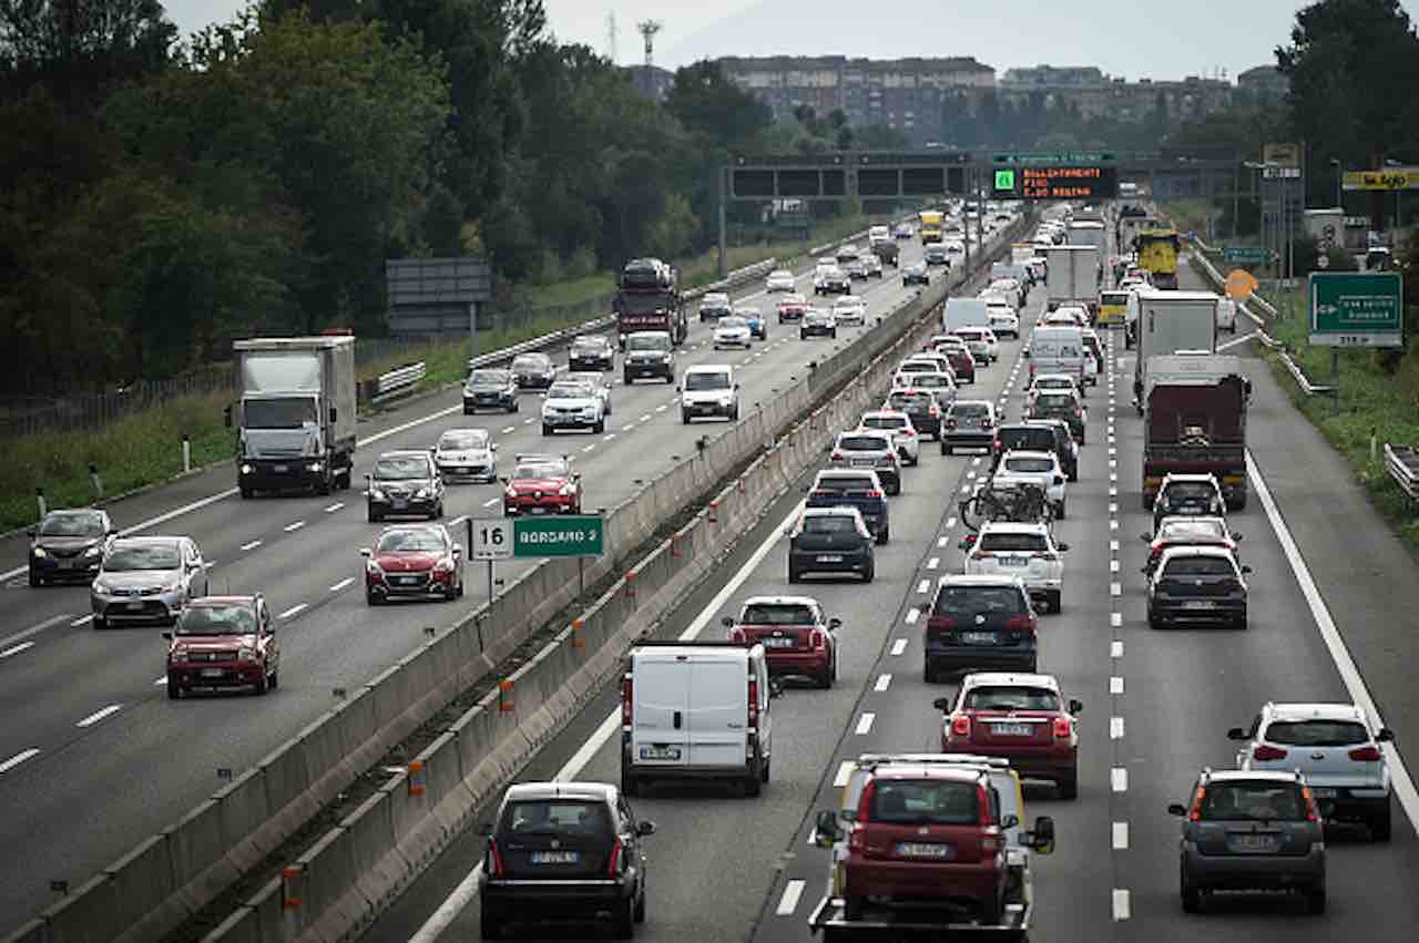
<svg viewBox="0 0 1419 943">
<path fill-rule="evenodd" d="M 350 486 L 355 467 L 355 337 L 255 337 L 231 345 L 241 400 L 227 408 L 237 427 L 237 488 Z"/>
</svg>

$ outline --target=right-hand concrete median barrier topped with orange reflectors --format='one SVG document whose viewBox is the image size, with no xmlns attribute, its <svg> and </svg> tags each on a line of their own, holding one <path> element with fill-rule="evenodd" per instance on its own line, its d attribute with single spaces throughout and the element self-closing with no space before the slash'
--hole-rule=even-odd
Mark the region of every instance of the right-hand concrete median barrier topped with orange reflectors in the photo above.
<svg viewBox="0 0 1419 943">
<path fill-rule="evenodd" d="M 348 940 L 368 926 L 494 798 L 561 725 L 620 671 L 624 649 L 678 606 L 690 587 L 722 560 L 768 506 L 806 469 L 822 464 L 840 428 L 870 408 L 887 389 L 898 359 L 917 347 L 912 326 L 929 319 L 935 330 L 946 285 L 938 284 L 884 318 L 878 353 L 826 401 L 759 454 L 708 506 L 630 567 L 586 611 L 572 620 L 529 662 L 490 691 L 438 735 L 406 769 L 393 773 L 379 793 L 324 835 L 280 878 L 231 913 L 209 943 L 272 943 L 274 940 Z M 805 386 L 789 396 L 797 401 Z M 772 408 L 772 407 L 771 407 Z M 755 415 L 766 414 L 762 404 Z M 755 442 L 753 417 L 741 430 Z M 762 428 L 762 425 L 758 425 Z M 752 445 L 751 445 L 752 447 Z M 648 485 L 622 508 L 660 491 L 651 505 L 677 502 L 681 485 L 702 458 L 683 459 L 661 482 Z M 617 510 L 622 510 L 619 508 Z M 656 510 L 644 526 L 654 526 Z M 298 906 L 289 906 L 298 899 Z"/>
</svg>

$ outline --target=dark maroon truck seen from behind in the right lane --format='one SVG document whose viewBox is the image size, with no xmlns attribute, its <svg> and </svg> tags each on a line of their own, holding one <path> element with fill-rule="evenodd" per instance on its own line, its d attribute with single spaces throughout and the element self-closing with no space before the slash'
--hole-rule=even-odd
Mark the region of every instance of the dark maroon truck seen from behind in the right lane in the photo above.
<svg viewBox="0 0 1419 943">
<path fill-rule="evenodd" d="M 1252 381 L 1242 372 L 1242 359 L 1219 353 L 1149 357 L 1147 383 L 1144 509 L 1152 508 L 1169 472 L 1215 475 L 1227 509 L 1244 508 Z"/>
</svg>

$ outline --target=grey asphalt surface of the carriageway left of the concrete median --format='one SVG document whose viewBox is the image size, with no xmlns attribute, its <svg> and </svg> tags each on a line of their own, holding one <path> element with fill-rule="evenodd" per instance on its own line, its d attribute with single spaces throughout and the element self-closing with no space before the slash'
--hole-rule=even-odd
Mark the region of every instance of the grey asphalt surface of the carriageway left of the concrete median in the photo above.
<svg viewBox="0 0 1419 943">
<path fill-rule="evenodd" d="M 904 247 L 904 261 L 920 258 Z M 710 326 L 691 312 L 690 342 L 677 370 L 701 363 L 734 363 L 742 408 L 800 376 L 809 360 L 871 330 L 876 315 L 911 292 L 894 271 L 856 291 L 868 299 L 868 326 L 840 329 L 839 340 L 799 340 L 796 325 L 779 326 L 773 298 L 741 292 L 769 315 L 768 342 L 749 352 L 714 352 Z M 812 278 L 799 278 L 812 296 Z M 829 301 L 829 299 L 824 299 Z M 518 452 L 556 451 L 576 459 L 585 475 L 585 509 L 612 508 L 637 479 L 667 471 L 701 435 L 717 435 L 718 421 L 683 425 L 674 387 L 614 374 L 613 413 L 606 433 L 563 433 L 543 438 L 538 394 L 522 394 L 517 414 L 461 414 L 457 390 L 421 398 L 362 423 L 356 482 L 370 461 L 394 448 L 427 448 L 451 427 L 482 427 L 499 445 L 499 471 Z M 368 425 L 368 430 L 365 428 Z M 240 774 L 331 706 L 332 689 L 363 683 L 410 654 L 426 627 L 454 623 L 487 598 L 482 564 L 467 571 L 461 603 L 399 604 L 370 610 L 363 598 L 359 547 L 379 525 L 369 525 L 359 486 L 326 498 L 240 501 L 231 469 L 223 468 L 116 503 L 119 528 L 159 519 L 143 533 L 193 536 L 210 564 L 213 593 L 261 591 L 280 615 L 281 689 L 263 699 L 228 696 L 169 702 L 162 685 L 166 651 L 159 628 L 94 631 L 87 587 L 30 588 L 23 576 L 0 588 L 0 822 L 7 855 L 0 871 L 0 933 L 53 900 L 51 879 L 78 886 L 145 835 L 175 822 L 216 791 L 219 770 Z M 501 485 L 450 486 L 446 520 L 501 516 Z M 206 503 L 203 503 L 206 502 Z M 189 505 L 192 506 L 184 510 Z M 167 519 L 163 519 L 167 518 Z M 457 539 L 465 533 L 460 526 Z M 23 562 L 23 542 L 0 542 Z M 526 563 L 499 564 L 512 583 Z"/>
</svg>

